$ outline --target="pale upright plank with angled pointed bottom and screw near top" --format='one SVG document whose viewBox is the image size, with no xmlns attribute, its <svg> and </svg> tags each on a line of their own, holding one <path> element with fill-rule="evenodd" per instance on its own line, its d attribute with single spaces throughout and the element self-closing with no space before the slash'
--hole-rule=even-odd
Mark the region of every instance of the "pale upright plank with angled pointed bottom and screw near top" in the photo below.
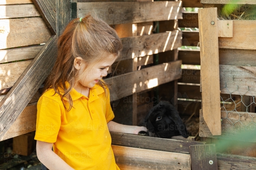
<svg viewBox="0 0 256 170">
<path fill-rule="evenodd" d="M 221 135 L 217 8 L 199 9 L 198 17 L 203 116 L 211 133 Z"/>
</svg>

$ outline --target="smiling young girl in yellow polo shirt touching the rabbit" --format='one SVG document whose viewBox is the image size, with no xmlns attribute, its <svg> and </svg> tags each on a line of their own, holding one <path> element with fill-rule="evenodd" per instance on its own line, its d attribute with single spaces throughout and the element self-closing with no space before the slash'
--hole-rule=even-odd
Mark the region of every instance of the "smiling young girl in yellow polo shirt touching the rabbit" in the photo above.
<svg viewBox="0 0 256 170">
<path fill-rule="evenodd" d="M 90 15 L 72 20 L 59 37 L 57 61 L 37 104 L 36 151 L 48 169 L 119 169 L 109 131 L 147 130 L 111 121 L 102 78 L 121 50 L 115 30 Z"/>
</svg>

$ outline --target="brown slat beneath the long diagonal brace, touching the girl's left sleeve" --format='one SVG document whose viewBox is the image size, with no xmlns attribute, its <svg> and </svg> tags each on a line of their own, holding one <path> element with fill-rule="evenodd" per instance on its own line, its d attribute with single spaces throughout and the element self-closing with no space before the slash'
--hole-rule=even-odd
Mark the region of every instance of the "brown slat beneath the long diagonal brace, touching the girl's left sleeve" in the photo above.
<svg viewBox="0 0 256 170">
<path fill-rule="evenodd" d="M 22 113 L 20 113 L 12 126 L 8 129 L 2 140 L 6 140 L 36 130 L 36 106 L 37 102 L 28 104 Z"/>
</svg>

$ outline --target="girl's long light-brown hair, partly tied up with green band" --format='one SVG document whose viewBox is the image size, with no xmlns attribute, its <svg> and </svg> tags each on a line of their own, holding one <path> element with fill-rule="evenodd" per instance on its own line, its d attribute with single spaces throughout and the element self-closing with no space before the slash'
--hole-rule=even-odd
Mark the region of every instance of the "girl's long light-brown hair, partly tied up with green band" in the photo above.
<svg viewBox="0 0 256 170">
<path fill-rule="evenodd" d="M 122 42 L 116 31 L 97 16 L 88 14 L 81 22 L 79 18 L 73 19 L 58 38 L 57 60 L 46 80 L 44 91 L 53 88 L 55 93 L 61 96 L 62 102 L 64 97 L 68 101 L 68 109 L 63 103 L 65 109 L 71 110 L 73 102 L 70 92 L 79 81 L 74 59 L 81 57 L 87 66 L 86 69 L 90 69 L 91 65 L 99 61 L 109 60 L 102 57 L 104 52 L 120 57 L 121 50 Z M 65 82 L 69 83 L 69 87 Z M 97 84 L 106 92 L 108 84 L 101 80 Z"/>
</svg>

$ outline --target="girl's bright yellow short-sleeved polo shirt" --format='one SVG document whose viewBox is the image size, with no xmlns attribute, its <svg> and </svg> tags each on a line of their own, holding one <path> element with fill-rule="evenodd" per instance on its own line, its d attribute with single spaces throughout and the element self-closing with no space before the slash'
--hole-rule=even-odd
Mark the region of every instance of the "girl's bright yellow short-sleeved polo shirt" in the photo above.
<svg viewBox="0 0 256 170">
<path fill-rule="evenodd" d="M 114 118 L 108 88 L 107 93 L 95 84 L 88 98 L 73 88 L 73 108 L 67 112 L 54 89 L 47 90 L 37 103 L 35 140 L 54 143 L 54 152 L 76 170 L 120 170 L 107 126 Z"/>
</svg>

